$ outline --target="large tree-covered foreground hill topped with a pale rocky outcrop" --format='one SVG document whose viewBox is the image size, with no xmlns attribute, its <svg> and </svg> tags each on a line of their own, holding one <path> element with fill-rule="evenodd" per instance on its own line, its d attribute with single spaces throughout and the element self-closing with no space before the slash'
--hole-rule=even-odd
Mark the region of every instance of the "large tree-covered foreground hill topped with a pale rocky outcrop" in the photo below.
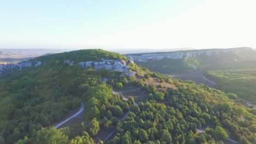
<svg viewBox="0 0 256 144">
<path fill-rule="evenodd" d="M 217 89 L 141 68 L 118 53 L 80 50 L 3 68 L 1 143 L 256 142 L 255 109 Z M 81 102 L 79 119 L 52 127 Z"/>
</svg>

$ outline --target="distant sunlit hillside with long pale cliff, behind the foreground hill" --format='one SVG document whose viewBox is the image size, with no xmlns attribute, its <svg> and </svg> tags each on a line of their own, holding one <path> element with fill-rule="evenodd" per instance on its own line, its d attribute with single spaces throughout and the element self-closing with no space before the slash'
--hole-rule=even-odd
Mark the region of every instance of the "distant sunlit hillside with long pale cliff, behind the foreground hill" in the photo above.
<svg viewBox="0 0 256 144">
<path fill-rule="evenodd" d="M 256 51 L 249 47 L 128 55 L 142 67 L 182 80 L 193 80 L 256 104 Z M 212 82 L 213 81 L 214 84 Z M 240 101 L 240 99 L 238 99 Z"/>
</svg>

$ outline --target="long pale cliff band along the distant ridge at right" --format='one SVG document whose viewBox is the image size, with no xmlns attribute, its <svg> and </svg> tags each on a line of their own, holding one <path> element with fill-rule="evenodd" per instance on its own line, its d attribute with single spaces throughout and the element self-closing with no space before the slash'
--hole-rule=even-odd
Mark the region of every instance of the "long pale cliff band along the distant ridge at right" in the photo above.
<svg viewBox="0 0 256 144">
<path fill-rule="evenodd" d="M 241 48 L 233 48 L 233 49 L 211 49 L 211 50 L 201 50 L 194 52 L 165 52 L 165 53 L 145 53 L 140 56 L 137 55 L 128 55 L 132 61 L 146 62 L 149 59 L 163 59 L 163 58 L 171 58 L 171 59 L 181 59 L 181 58 L 189 58 L 189 57 L 197 57 L 201 55 L 211 56 L 219 53 L 232 52 L 239 55 L 241 52 L 250 52 L 252 48 L 250 47 L 241 47 Z"/>
</svg>

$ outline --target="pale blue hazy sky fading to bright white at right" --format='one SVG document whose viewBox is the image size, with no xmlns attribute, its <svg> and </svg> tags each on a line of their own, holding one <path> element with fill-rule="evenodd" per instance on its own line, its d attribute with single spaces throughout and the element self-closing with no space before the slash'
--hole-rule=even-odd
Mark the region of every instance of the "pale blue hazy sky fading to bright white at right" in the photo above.
<svg viewBox="0 0 256 144">
<path fill-rule="evenodd" d="M 0 0 L 0 48 L 256 47 L 255 0 Z"/>
</svg>

